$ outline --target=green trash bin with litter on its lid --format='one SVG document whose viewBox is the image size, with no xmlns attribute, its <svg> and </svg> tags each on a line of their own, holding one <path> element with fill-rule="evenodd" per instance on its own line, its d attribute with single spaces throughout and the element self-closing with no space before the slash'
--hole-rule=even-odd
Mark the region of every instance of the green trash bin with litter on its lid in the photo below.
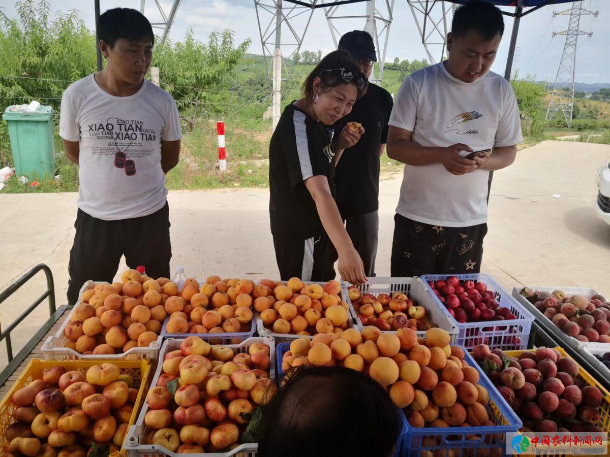
<svg viewBox="0 0 610 457">
<path fill-rule="evenodd" d="M 55 144 L 53 141 L 53 108 L 40 106 L 31 113 L 4 111 L 2 119 L 9 127 L 10 149 L 17 176 L 53 179 Z"/>
</svg>

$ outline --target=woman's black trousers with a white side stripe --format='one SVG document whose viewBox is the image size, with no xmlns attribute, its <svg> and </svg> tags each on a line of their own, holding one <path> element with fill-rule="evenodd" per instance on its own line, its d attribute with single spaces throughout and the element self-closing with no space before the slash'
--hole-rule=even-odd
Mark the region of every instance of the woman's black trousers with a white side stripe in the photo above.
<svg viewBox="0 0 610 457">
<path fill-rule="evenodd" d="M 326 233 L 304 239 L 299 236 L 273 235 L 275 258 L 282 281 L 325 282 L 334 279 L 337 254 Z"/>
</svg>

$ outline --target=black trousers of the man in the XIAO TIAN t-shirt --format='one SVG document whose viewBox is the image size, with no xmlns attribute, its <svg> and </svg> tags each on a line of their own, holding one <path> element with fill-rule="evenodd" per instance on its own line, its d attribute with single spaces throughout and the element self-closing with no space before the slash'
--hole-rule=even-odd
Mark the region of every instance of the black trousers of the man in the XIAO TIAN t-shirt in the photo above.
<svg viewBox="0 0 610 457">
<path fill-rule="evenodd" d="M 68 303 L 74 305 L 87 280 L 112 283 L 121 256 L 131 268 L 143 265 L 152 278 L 170 277 L 170 207 L 142 218 L 103 221 L 82 210 L 76 214 L 70 250 Z"/>
</svg>

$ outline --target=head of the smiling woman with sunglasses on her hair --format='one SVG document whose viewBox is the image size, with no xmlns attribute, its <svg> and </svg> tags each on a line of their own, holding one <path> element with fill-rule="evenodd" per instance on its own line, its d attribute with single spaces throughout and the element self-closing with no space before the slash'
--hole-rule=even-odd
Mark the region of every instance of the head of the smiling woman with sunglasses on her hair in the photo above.
<svg viewBox="0 0 610 457">
<path fill-rule="evenodd" d="M 327 54 L 303 83 L 301 102 L 317 121 L 331 126 L 351 112 L 368 86 L 367 77 L 346 51 Z"/>
</svg>

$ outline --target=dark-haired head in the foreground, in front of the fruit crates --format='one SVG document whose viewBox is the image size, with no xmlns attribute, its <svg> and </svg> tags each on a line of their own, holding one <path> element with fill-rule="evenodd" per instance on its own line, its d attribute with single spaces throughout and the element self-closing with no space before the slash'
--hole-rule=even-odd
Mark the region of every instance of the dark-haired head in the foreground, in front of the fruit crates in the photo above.
<svg viewBox="0 0 610 457">
<path fill-rule="evenodd" d="M 300 366 L 262 411 L 260 457 L 389 456 L 401 423 L 390 395 L 345 367 Z"/>
</svg>

